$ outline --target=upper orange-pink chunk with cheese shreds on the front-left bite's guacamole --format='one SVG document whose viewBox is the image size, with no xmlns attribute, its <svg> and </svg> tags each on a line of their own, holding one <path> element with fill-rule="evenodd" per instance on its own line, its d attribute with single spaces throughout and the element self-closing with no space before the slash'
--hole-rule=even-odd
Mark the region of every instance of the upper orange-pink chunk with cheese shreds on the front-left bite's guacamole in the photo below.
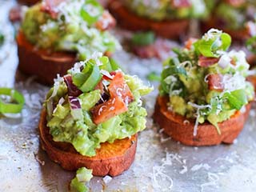
<svg viewBox="0 0 256 192">
<path fill-rule="evenodd" d="M 118 72 L 114 75 L 108 89 L 110 91 L 110 98 L 120 97 L 126 103 L 126 105 L 134 100 L 134 95 L 131 93 L 129 86 L 126 84 L 122 72 Z"/>
</svg>

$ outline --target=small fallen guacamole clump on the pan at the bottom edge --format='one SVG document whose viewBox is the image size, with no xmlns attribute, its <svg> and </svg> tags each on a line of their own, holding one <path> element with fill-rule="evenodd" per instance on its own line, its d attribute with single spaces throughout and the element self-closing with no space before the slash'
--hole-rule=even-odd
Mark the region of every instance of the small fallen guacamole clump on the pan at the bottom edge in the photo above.
<svg viewBox="0 0 256 192">
<path fill-rule="evenodd" d="M 88 170 L 86 167 L 79 168 L 75 178 L 70 182 L 71 192 L 87 192 L 89 188 L 86 186 L 86 182 L 90 182 L 93 178 L 93 170 Z"/>
</svg>

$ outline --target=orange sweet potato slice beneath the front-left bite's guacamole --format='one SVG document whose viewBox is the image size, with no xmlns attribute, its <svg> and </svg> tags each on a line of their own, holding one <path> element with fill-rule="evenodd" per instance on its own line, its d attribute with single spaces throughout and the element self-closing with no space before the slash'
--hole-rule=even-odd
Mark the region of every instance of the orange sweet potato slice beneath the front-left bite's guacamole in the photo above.
<svg viewBox="0 0 256 192">
<path fill-rule="evenodd" d="M 116 176 L 128 170 L 134 162 L 137 134 L 131 138 L 116 140 L 112 144 L 102 143 L 101 148 L 96 150 L 96 156 L 90 158 L 78 154 L 70 143 L 53 141 L 46 126 L 46 110 L 42 110 L 39 132 L 42 149 L 46 150 L 51 160 L 59 163 L 65 170 L 78 170 L 85 166 L 92 169 L 95 176 Z"/>
</svg>

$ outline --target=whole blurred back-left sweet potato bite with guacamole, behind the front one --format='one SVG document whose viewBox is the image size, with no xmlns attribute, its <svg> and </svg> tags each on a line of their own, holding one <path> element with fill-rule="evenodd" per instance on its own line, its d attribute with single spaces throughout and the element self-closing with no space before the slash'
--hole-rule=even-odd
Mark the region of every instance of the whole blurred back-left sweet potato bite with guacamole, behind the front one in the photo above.
<svg viewBox="0 0 256 192">
<path fill-rule="evenodd" d="M 109 33 L 115 20 L 96 0 L 43 1 L 30 7 L 18 32 L 18 69 L 50 84 L 94 51 L 120 48 Z"/>
</svg>

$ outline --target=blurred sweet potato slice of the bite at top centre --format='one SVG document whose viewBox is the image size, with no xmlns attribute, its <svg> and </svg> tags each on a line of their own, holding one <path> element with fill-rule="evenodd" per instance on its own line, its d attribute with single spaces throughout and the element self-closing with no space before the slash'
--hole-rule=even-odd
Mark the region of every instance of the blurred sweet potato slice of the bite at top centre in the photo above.
<svg viewBox="0 0 256 192">
<path fill-rule="evenodd" d="M 117 19 L 118 25 L 127 30 L 148 31 L 153 30 L 158 36 L 163 38 L 178 38 L 184 34 L 189 26 L 189 21 L 185 19 L 168 20 L 155 22 L 153 20 L 139 17 L 130 12 L 122 5 L 122 1 L 112 0 L 108 6 L 110 13 Z"/>
</svg>

